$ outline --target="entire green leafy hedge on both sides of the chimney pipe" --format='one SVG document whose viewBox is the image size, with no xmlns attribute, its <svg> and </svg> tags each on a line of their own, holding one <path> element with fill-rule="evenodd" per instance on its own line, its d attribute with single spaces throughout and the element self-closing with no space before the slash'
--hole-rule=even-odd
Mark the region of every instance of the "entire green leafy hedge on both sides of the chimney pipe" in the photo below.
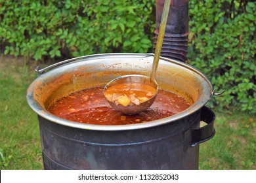
<svg viewBox="0 0 256 183">
<path fill-rule="evenodd" d="M 156 1 L 0 0 L 0 48 L 33 59 L 152 52 Z M 256 113 L 253 0 L 190 0 L 189 63 L 217 90 L 210 105 Z"/>
</svg>

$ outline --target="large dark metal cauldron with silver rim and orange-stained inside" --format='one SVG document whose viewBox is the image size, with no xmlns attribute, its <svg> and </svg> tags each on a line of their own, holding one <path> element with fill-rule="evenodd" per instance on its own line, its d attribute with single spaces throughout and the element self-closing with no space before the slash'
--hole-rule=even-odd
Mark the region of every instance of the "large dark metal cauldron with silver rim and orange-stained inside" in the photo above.
<svg viewBox="0 0 256 183">
<path fill-rule="evenodd" d="M 198 169 L 199 144 L 215 135 L 215 114 L 204 107 L 209 80 L 190 65 L 160 58 L 156 80 L 194 104 L 183 112 L 134 125 L 80 124 L 47 108 L 64 95 L 102 86 L 121 75 L 149 75 L 154 54 L 99 54 L 56 63 L 28 88 L 38 114 L 45 169 Z M 200 120 L 207 123 L 200 128 Z"/>
</svg>

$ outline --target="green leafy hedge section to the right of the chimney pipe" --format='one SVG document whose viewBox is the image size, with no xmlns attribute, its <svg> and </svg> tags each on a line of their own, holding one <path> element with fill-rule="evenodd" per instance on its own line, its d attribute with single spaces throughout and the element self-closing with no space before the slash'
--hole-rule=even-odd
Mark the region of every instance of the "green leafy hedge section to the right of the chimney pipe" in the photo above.
<svg viewBox="0 0 256 183">
<path fill-rule="evenodd" d="M 217 92 L 213 103 L 256 113 L 254 1 L 190 1 L 192 65 L 211 78 Z"/>
</svg>

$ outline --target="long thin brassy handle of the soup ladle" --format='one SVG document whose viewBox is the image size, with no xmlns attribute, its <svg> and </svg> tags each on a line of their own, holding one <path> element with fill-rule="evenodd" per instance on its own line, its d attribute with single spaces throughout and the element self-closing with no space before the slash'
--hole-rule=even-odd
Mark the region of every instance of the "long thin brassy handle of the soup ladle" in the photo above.
<svg viewBox="0 0 256 183">
<path fill-rule="evenodd" d="M 151 82 L 154 82 L 156 78 L 156 69 L 158 69 L 158 62 L 161 54 L 161 46 L 163 44 L 163 37 L 165 35 L 165 27 L 167 23 L 170 5 L 171 5 L 171 0 L 165 0 L 165 4 L 163 5 L 163 14 L 161 15 L 158 41 L 156 41 L 156 50 L 155 50 L 154 61 L 153 61 L 153 66 L 152 66 L 152 71 L 150 76 Z"/>
</svg>

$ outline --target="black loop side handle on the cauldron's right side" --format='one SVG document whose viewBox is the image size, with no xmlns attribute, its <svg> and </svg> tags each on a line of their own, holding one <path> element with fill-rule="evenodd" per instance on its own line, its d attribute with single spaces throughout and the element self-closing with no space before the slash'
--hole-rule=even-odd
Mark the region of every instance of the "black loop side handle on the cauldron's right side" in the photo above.
<svg viewBox="0 0 256 183">
<path fill-rule="evenodd" d="M 199 129 L 188 129 L 184 132 L 184 150 L 187 150 L 190 146 L 197 146 L 202 142 L 209 141 L 209 139 L 214 137 L 214 112 L 207 107 L 202 107 L 200 120 L 205 122 L 207 125 L 200 127 Z"/>
</svg>

